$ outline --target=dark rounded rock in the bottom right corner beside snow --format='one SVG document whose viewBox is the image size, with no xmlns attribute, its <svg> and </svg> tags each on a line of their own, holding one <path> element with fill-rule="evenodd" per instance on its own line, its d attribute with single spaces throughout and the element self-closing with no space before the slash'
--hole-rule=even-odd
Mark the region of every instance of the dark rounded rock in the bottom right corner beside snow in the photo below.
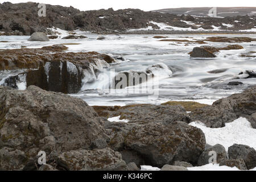
<svg viewBox="0 0 256 182">
<path fill-rule="evenodd" d="M 229 147 L 230 159 L 243 159 L 247 169 L 256 167 L 256 151 L 254 148 L 242 144 L 234 144 Z"/>
</svg>

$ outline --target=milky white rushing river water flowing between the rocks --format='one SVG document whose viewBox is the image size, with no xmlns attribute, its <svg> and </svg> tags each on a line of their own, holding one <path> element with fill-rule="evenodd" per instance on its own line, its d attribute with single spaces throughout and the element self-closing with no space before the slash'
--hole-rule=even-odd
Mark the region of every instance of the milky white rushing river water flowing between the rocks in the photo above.
<svg viewBox="0 0 256 182">
<path fill-rule="evenodd" d="M 186 22 L 189 23 L 189 22 Z M 160 24 L 159 24 L 160 26 Z M 164 28 L 166 25 L 162 25 Z M 67 35 L 68 32 L 62 32 Z M 106 53 L 113 57 L 122 57 L 116 64 L 107 64 L 102 60 L 96 60 L 96 65 L 84 71 L 86 77 L 83 80 L 81 92 L 72 94 L 88 102 L 89 105 L 126 105 L 131 103 L 151 103 L 160 104 L 170 100 L 204 100 L 212 103 L 230 94 L 242 92 L 250 85 L 254 85 L 255 78 L 234 79 L 238 73 L 247 69 L 256 69 L 254 57 L 241 57 L 243 53 L 255 51 L 254 43 L 236 43 L 244 47 L 240 50 L 220 51 L 214 59 L 197 60 L 190 59 L 188 52 L 193 47 L 201 44 L 177 44 L 176 42 L 160 42 L 154 39 L 155 35 L 104 35 L 105 40 L 97 40 L 98 35 L 79 32 L 87 39 L 62 40 L 53 39 L 49 42 L 28 42 L 28 36 L 1 36 L 1 40 L 9 41 L 1 43 L 0 49 L 20 48 L 40 48 L 53 44 L 79 43 L 76 45 L 67 44 L 67 52 L 89 52 L 96 51 Z M 168 36 L 167 39 L 179 40 L 200 40 L 210 35 L 161 35 Z M 214 35 L 216 36 L 216 35 Z M 256 35 L 217 35 L 227 37 L 248 36 L 256 38 Z M 207 42 L 209 46 L 225 47 L 233 43 Z M 255 53 L 251 53 L 255 55 Z M 128 61 L 127 61 L 128 60 Z M 49 63 L 48 63 L 49 64 Z M 146 94 L 139 92 L 127 92 L 127 89 L 115 90 L 116 92 L 101 92 L 102 85 L 106 87 L 113 77 L 122 71 L 140 70 L 152 67 L 155 64 L 165 64 L 164 69 L 151 68 L 154 75 L 159 78 L 158 100 L 148 100 Z M 71 72 L 76 72 L 71 65 Z M 73 69 L 74 68 L 74 69 Z M 208 73 L 216 69 L 226 69 L 220 73 Z M 50 65 L 46 65 L 50 69 Z M 113 72 L 114 69 L 114 72 Z M 111 74 L 110 74 L 111 73 Z M 106 76 L 108 75 L 108 76 Z M 111 76 L 110 76 L 111 75 Z M 2 80 L 3 81 L 3 80 Z M 242 81 L 243 85 L 226 86 L 229 81 Z M 139 87 L 135 87 L 139 90 Z M 145 88 L 142 87 L 141 88 Z"/>
</svg>

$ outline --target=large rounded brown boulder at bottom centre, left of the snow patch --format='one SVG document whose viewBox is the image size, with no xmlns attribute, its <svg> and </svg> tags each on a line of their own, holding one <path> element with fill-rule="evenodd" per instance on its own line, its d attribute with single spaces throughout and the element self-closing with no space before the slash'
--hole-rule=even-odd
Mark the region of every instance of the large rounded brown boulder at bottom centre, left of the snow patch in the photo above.
<svg viewBox="0 0 256 182">
<path fill-rule="evenodd" d="M 160 121 L 142 122 L 106 125 L 113 136 L 110 147 L 121 153 L 132 151 L 137 155 L 137 162 L 141 159 L 142 164 L 149 166 L 161 168 L 175 161 L 197 163 L 205 147 L 203 131 L 181 121 L 168 124 Z"/>
</svg>

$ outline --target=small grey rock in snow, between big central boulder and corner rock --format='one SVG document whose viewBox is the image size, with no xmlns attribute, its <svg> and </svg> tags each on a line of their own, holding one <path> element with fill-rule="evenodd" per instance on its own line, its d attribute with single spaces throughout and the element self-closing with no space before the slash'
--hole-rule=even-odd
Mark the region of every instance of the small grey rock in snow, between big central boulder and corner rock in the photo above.
<svg viewBox="0 0 256 182">
<path fill-rule="evenodd" d="M 210 152 L 216 152 L 217 154 L 217 163 L 220 163 L 221 160 L 227 159 L 225 147 L 221 144 L 216 144 L 215 146 L 208 147 L 203 153 L 200 155 L 200 158 L 197 162 L 199 166 L 204 166 L 205 164 L 209 164 L 209 158 L 212 156 Z"/>
</svg>

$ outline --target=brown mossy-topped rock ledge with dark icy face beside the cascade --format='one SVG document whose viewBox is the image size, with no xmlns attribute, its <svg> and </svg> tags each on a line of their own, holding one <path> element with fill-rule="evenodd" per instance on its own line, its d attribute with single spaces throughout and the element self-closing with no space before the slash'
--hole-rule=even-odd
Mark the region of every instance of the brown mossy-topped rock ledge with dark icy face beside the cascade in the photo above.
<svg viewBox="0 0 256 182">
<path fill-rule="evenodd" d="M 115 61 L 109 55 L 97 52 L 64 52 L 66 49 L 63 45 L 40 49 L 7 49 L 0 52 L 0 70 L 27 69 L 19 74 L 25 78 L 26 86 L 36 85 L 53 92 L 77 93 L 85 76 L 96 77 L 96 72 L 101 72 L 109 66 L 108 63 Z M 6 78 L 5 85 L 17 88 L 19 76 Z"/>
</svg>

